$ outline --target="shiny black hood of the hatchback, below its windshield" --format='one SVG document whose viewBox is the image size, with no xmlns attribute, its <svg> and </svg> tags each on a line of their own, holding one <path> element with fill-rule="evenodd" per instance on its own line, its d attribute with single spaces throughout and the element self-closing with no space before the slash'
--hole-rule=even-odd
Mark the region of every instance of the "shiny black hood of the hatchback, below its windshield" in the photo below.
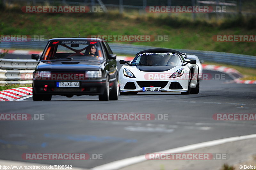
<svg viewBox="0 0 256 170">
<path fill-rule="evenodd" d="M 84 71 L 99 70 L 104 63 L 102 60 L 62 60 L 62 61 L 39 61 L 37 70 L 48 71 Z"/>
</svg>

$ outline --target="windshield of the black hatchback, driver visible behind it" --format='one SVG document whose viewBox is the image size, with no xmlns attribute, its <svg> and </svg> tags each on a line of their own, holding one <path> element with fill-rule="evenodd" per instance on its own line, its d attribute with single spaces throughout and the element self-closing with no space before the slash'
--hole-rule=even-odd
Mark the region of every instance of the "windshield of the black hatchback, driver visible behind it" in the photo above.
<svg viewBox="0 0 256 170">
<path fill-rule="evenodd" d="M 99 42 L 90 41 L 51 41 L 41 58 L 58 59 L 92 59 L 103 60 Z"/>
</svg>

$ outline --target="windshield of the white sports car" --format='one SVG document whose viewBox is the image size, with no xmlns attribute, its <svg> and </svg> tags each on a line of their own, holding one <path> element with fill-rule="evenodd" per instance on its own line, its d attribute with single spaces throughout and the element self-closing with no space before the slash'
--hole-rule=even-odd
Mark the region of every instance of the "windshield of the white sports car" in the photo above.
<svg viewBox="0 0 256 170">
<path fill-rule="evenodd" d="M 174 53 L 143 53 L 132 61 L 133 66 L 182 66 L 180 57 Z"/>
</svg>

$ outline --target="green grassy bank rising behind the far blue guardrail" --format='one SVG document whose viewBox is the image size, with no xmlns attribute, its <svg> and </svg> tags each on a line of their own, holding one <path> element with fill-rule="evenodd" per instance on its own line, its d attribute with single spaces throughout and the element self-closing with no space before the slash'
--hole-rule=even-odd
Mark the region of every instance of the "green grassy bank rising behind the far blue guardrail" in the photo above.
<svg viewBox="0 0 256 170">
<path fill-rule="evenodd" d="M 20 10 L 20 9 L 19 9 Z M 8 13 L 8 15 L 6 15 Z M 127 16 L 118 13 L 21 13 L 0 12 L 4 35 L 44 35 L 45 38 L 88 35 L 167 35 L 168 41 L 118 42 L 171 49 L 192 49 L 255 55 L 255 42 L 214 42 L 213 35 L 254 35 L 250 19 L 231 18 L 222 22 L 191 21 L 175 16 Z M 256 20 L 256 19 L 255 19 Z M 240 22 L 244 24 L 241 26 Z M 247 27 L 253 26 L 252 28 Z"/>
</svg>

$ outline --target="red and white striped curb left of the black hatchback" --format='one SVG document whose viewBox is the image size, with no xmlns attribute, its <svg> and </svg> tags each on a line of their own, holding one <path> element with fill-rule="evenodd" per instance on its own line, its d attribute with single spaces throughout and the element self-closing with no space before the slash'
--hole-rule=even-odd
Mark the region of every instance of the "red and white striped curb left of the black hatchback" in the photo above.
<svg viewBox="0 0 256 170">
<path fill-rule="evenodd" d="M 19 87 L 0 91 L 0 101 L 13 101 L 31 96 L 32 87 Z"/>
</svg>

